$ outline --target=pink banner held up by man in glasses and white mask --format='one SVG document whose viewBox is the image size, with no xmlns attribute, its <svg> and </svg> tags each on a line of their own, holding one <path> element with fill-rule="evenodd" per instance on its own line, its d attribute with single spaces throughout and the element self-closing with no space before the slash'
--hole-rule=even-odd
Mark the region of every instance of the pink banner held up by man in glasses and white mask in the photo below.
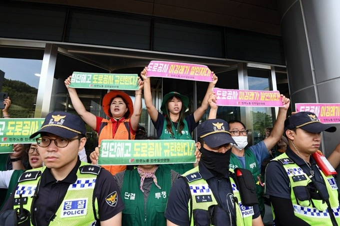
<svg viewBox="0 0 340 226">
<path fill-rule="evenodd" d="M 283 107 L 278 91 L 213 88 L 218 106 Z"/>
</svg>

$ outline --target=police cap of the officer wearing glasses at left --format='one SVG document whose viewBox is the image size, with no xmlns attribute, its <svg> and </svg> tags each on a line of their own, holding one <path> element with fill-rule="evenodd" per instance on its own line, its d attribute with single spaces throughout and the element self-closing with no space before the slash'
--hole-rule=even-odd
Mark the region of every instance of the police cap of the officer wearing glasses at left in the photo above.
<svg viewBox="0 0 340 226">
<path fill-rule="evenodd" d="M 51 112 L 46 115 L 40 130 L 30 135 L 29 138 L 36 137 L 43 132 L 71 139 L 80 134 L 85 136 L 86 127 L 84 121 L 77 115 L 63 111 Z"/>
</svg>

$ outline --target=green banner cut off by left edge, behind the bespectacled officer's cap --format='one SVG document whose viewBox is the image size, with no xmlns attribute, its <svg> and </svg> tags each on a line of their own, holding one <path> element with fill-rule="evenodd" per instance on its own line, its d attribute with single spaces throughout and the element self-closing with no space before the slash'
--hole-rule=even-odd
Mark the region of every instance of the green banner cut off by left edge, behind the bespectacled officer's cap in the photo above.
<svg viewBox="0 0 340 226">
<path fill-rule="evenodd" d="M 44 118 L 0 119 L 0 144 L 30 144 L 29 136 L 38 131 Z"/>
</svg>

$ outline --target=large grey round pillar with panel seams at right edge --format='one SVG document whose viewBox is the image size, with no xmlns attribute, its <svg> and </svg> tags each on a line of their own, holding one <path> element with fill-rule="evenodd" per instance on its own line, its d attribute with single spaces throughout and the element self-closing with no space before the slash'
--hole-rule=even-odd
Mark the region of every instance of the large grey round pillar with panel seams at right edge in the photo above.
<svg viewBox="0 0 340 226">
<path fill-rule="evenodd" d="M 295 103 L 340 103 L 340 1 L 277 0 L 292 110 Z M 328 156 L 340 142 L 324 132 Z"/>
</svg>

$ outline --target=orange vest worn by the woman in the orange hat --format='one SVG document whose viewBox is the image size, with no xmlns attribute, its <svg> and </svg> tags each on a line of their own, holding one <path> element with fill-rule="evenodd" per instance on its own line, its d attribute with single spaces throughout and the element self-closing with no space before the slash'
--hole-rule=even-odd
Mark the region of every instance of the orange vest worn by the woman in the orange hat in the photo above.
<svg viewBox="0 0 340 226">
<path fill-rule="evenodd" d="M 102 119 L 100 122 L 98 134 L 99 134 L 98 144 L 100 144 L 101 140 L 111 140 L 113 137 L 112 123 L 109 120 Z M 130 119 L 125 119 L 119 124 L 117 131 L 115 132 L 115 135 L 113 137 L 113 140 L 134 140 L 134 137 L 135 135 L 132 134 L 130 131 Z M 115 175 L 120 171 L 126 170 L 125 165 L 101 166 L 101 167 L 109 171 L 112 175 Z"/>
</svg>

